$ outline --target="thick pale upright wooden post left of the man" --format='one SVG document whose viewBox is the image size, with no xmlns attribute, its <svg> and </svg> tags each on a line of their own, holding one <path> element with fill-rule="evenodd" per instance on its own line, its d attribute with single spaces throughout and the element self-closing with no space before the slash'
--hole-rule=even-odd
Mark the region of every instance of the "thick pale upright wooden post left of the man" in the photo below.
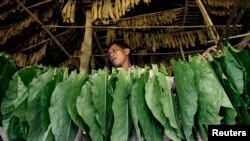
<svg viewBox="0 0 250 141">
<path fill-rule="evenodd" d="M 89 64 L 92 55 L 92 22 L 91 11 L 86 11 L 85 33 L 80 50 L 80 72 L 85 70 L 89 72 Z"/>
</svg>

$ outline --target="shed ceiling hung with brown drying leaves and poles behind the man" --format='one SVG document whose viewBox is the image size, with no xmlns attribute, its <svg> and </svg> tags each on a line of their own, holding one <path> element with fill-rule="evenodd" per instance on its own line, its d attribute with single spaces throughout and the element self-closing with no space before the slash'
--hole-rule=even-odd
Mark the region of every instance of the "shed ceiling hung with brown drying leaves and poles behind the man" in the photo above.
<svg viewBox="0 0 250 141">
<path fill-rule="evenodd" d="M 219 37 L 248 32 L 247 4 L 247 0 L 1 0 L 0 52 L 10 54 L 20 67 L 77 67 L 85 12 L 91 10 L 92 66 L 105 65 L 107 44 L 113 40 L 125 40 L 136 63 L 167 63 L 173 57 L 200 53 Z"/>
</svg>

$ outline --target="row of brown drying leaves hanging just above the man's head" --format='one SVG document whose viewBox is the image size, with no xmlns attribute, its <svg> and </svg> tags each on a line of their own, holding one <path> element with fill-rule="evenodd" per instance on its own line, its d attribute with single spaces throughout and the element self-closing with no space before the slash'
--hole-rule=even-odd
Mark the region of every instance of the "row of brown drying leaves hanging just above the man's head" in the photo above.
<svg viewBox="0 0 250 141">
<path fill-rule="evenodd" d="M 209 34 L 203 30 L 187 31 L 182 33 L 166 34 L 162 33 L 141 33 L 133 31 L 119 31 L 115 33 L 114 29 L 109 29 L 106 35 L 106 44 L 115 41 L 118 36 L 133 50 L 146 49 L 147 51 L 156 52 L 160 47 L 178 48 L 178 47 L 195 47 L 198 40 L 200 44 L 207 44 Z M 210 37 L 211 38 L 211 37 Z"/>
</svg>

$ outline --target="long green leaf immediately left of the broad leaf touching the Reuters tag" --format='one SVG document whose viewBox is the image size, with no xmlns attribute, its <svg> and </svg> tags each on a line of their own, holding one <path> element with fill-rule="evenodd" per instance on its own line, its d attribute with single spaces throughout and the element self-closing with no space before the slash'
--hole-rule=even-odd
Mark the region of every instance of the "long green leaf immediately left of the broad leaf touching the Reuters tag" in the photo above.
<svg viewBox="0 0 250 141">
<path fill-rule="evenodd" d="M 171 61 L 175 74 L 175 84 L 179 99 L 183 131 L 187 141 L 194 141 L 192 133 L 194 116 L 198 108 L 198 91 L 195 86 L 194 72 L 188 62 Z"/>
</svg>

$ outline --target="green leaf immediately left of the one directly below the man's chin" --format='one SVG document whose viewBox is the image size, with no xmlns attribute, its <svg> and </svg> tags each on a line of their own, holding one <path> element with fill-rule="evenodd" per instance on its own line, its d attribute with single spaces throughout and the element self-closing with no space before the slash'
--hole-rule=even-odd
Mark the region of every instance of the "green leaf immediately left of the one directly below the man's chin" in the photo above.
<svg viewBox="0 0 250 141">
<path fill-rule="evenodd" d="M 90 76 L 92 100 L 97 109 L 96 119 L 99 122 L 105 140 L 109 135 L 108 121 L 112 117 L 111 95 L 108 94 L 108 71 L 99 69 Z"/>
</svg>

